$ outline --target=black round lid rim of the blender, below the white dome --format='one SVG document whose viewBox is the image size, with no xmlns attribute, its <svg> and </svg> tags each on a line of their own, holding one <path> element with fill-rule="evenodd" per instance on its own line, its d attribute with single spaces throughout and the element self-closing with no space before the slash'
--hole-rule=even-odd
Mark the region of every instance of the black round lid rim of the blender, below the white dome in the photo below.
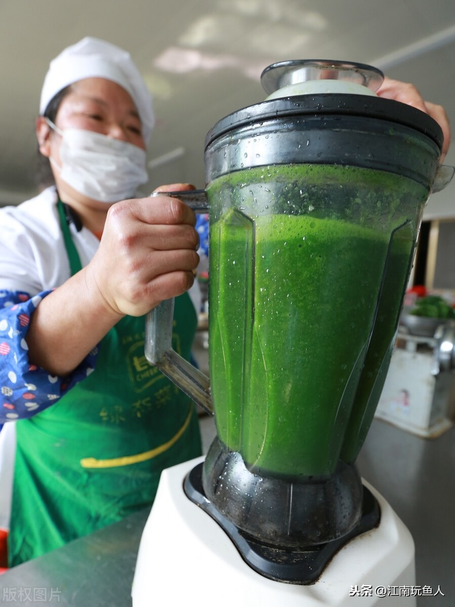
<svg viewBox="0 0 455 607">
<path fill-rule="evenodd" d="M 442 150 L 443 134 L 439 124 L 422 110 L 400 101 L 355 95 L 349 93 L 321 93 L 320 95 L 295 95 L 262 101 L 253 106 L 236 110 L 219 120 L 205 137 L 205 151 L 214 140 L 230 131 L 239 131 L 242 127 L 258 126 L 265 121 L 278 121 L 282 118 L 304 120 L 305 117 L 332 118 L 343 117 L 375 119 L 405 126 L 422 135 L 426 135 Z M 392 124 L 391 124 L 392 123 Z"/>
</svg>

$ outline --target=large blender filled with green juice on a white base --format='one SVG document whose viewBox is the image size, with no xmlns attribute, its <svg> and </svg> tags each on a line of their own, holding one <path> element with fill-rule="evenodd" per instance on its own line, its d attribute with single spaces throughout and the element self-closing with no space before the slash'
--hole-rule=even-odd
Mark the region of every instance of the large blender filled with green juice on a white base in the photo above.
<svg viewBox="0 0 455 607">
<path fill-rule="evenodd" d="M 439 125 L 378 98 L 382 80 L 340 61 L 269 66 L 269 97 L 207 134 L 205 191 L 175 194 L 210 212 L 210 380 L 171 349 L 172 300 L 149 314 L 146 356 L 214 412 L 217 436 L 205 459 L 163 472 L 134 607 L 177 604 L 210 562 L 220 605 L 239 589 L 261 605 L 344 605 L 374 580 L 414 583 L 412 538 L 355 460 L 423 207 L 453 169 L 438 166 Z"/>
</svg>

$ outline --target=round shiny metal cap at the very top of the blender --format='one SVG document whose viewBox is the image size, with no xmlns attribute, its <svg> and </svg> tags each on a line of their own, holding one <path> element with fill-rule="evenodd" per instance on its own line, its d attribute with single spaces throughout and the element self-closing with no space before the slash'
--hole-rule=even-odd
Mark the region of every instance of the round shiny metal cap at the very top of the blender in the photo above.
<svg viewBox="0 0 455 607">
<path fill-rule="evenodd" d="M 375 92 L 383 83 L 384 74 L 377 67 L 352 61 L 292 59 L 273 63 L 261 75 L 262 87 L 268 95 L 289 84 L 313 80 L 343 80 L 361 84 Z"/>
</svg>

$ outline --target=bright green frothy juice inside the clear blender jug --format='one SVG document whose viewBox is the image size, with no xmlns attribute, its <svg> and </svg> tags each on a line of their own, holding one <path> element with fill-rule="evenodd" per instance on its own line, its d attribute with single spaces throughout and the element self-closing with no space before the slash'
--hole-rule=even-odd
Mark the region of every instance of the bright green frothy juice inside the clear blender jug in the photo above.
<svg viewBox="0 0 455 607">
<path fill-rule="evenodd" d="M 358 390 L 393 340 L 416 240 L 416 188 L 333 166 L 242 173 L 209 189 L 218 436 L 258 473 L 321 478 L 342 450 L 349 459 L 358 449 L 372 408 L 368 382 Z"/>
</svg>

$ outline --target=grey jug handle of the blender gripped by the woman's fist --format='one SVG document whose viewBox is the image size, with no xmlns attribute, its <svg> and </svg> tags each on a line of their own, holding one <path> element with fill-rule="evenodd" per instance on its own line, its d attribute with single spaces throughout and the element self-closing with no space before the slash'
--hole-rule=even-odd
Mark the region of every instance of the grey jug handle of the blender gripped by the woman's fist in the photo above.
<svg viewBox="0 0 455 607">
<path fill-rule="evenodd" d="M 205 190 L 185 192 L 154 192 L 152 196 L 165 195 L 180 198 L 193 211 L 207 211 Z M 202 409 L 213 415 L 210 379 L 172 348 L 174 298 L 167 299 L 149 311 L 145 322 L 145 356 L 148 362 L 176 384 L 182 392 Z"/>
</svg>

